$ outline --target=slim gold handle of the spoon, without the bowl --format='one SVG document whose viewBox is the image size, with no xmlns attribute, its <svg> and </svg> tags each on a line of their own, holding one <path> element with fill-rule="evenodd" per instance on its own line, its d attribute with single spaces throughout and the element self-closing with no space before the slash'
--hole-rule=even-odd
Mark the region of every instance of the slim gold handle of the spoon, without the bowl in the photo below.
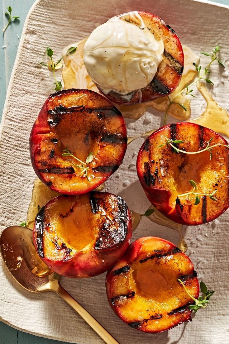
<svg viewBox="0 0 229 344">
<path fill-rule="evenodd" d="M 105 341 L 107 344 L 119 344 L 116 339 L 107 331 L 105 330 L 100 323 L 93 318 L 90 313 L 84 309 L 73 297 L 70 295 L 64 288 L 62 288 L 58 284 L 58 288 L 53 290 L 55 291 L 59 296 L 64 299 L 69 306 L 71 306 L 85 321 L 88 323 L 89 326 Z"/>
</svg>

